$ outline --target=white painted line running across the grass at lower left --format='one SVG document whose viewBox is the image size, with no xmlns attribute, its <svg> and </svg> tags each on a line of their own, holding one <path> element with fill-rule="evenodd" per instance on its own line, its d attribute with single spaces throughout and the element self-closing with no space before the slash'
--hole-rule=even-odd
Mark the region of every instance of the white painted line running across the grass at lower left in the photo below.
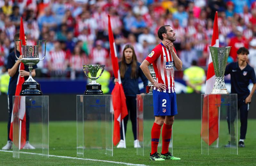
<svg viewBox="0 0 256 166">
<path fill-rule="evenodd" d="M 0 150 L 0 152 L 12 153 L 12 151 L 9 151 L 9 150 Z M 20 153 L 30 154 L 30 155 L 42 155 L 39 153 L 30 153 L 30 152 L 20 152 Z M 59 157 L 59 158 L 77 159 L 77 160 L 89 160 L 89 161 L 95 161 L 95 162 L 110 162 L 110 163 L 115 163 L 115 164 L 133 165 L 133 166 L 147 166 L 144 164 L 132 164 L 132 163 L 127 163 L 127 162 L 114 162 L 114 161 L 108 161 L 108 160 L 86 159 L 86 158 L 69 157 L 69 156 L 49 155 L 49 157 Z"/>
</svg>

